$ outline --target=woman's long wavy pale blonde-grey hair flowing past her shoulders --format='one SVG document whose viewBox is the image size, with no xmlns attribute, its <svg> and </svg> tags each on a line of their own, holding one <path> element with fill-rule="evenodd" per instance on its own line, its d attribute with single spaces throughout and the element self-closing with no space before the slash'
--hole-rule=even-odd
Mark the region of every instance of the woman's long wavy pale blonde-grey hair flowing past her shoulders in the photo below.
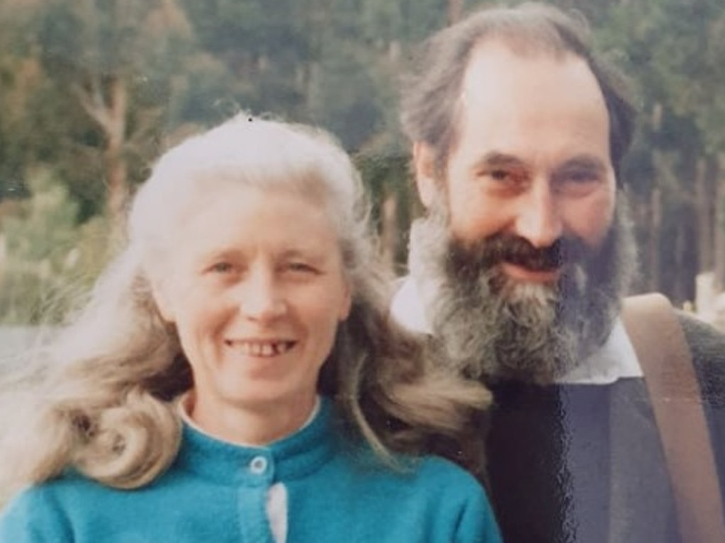
<svg viewBox="0 0 725 543">
<path fill-rule="evenodd" d="M 194 386 L 152 278 L 176 251 L 175 224 L 220 182 L 290 190 L 320 202 L 336 227 L 352 311 L 318 380 L 344 427 L 384 460 L 442 445 L 454 460 L 489 392 L 438 363 L 423 339 L 389 316 L 392 277 L 378 257 L 355 167 L 320 130 L 239 114 L 165 153 L 133 198 L 128 239 L 88 302 L 46 348 L 6 382 L 3 484 L 45 481 L 67 468 L 110 487 L 144 486 L 175 458 L 175 400 Z M 7 424 L 12 421 L 12 424 Z"/>
</svg>

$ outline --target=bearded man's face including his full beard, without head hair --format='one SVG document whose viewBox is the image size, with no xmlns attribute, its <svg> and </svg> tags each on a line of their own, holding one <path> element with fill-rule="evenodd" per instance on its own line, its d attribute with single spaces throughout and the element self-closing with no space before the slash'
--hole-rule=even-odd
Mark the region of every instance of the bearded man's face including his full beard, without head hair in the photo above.
<svg viewBox="0 0 725 543">
<path fill-rule="evenodd" d="M 457 119 L 444 174 L 431 148 L 414 150 L 421 199 L 447 230 L 421 243 L 441 261 L 422 273 L 447 280 L 434 327 L 463 366 L 493 351 L 481 371 L 547 381 L 605 337 L 628 279 L 604 98 L 577 56 L 486 42 Z M 420 237 L 441 227 L 429 217 Z"/>
</svg>

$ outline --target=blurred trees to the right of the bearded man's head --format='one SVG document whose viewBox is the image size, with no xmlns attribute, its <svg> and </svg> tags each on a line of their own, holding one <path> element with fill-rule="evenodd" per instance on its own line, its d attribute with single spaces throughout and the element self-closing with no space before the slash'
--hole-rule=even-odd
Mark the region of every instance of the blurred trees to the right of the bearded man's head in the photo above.
<svg viewBox="0 0 725 543">
<path fill-rule="evenodd" d="M 678 303 L 694 298 L 695 275 L 711 270 L 718 253 L 725 267 L 725 239 L 717 239 L 725 220 L 716 219 L 724 17 L 720 0 L 629 0 L 613 2 L 597 32 L 639 87 L 626 169 L 647 278 L 639 290 L 663 290 Z"/>
</svg>

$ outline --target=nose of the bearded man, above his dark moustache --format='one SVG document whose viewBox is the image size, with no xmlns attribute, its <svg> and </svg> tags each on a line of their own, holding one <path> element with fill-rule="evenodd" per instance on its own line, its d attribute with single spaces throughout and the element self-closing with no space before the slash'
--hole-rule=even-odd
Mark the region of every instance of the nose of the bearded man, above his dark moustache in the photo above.
<svg viewBox="0 0 725 543">
<path fill-rule="evenodd" d="M 563 235 L 563 221 L 556 194 L 548 182 L 534 182 L 519 202 L 516 234 L 536 248 L 549 247 Z"/>
</svg>

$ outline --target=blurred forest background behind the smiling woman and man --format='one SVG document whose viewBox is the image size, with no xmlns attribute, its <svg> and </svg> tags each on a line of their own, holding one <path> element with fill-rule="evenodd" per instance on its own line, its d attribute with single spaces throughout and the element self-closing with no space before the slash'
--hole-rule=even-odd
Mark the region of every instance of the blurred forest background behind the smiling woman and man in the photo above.
<svg viewBox="0 0 725 543">
<path fill-rule="evenodd" d="M 112 255 L 154 157 L 239 109 L 334 132 L 405 271 L 420 212 L 398 77 L 473 0 L 0 0 L 0 355 L 53 324 Z M 562 0 L 631 75 L 625 177 L 642 274 L 718 319 L 725 285 L 723 0 Z M 724 306 L 725 308 L 725 306 Z"/>
</svg>

